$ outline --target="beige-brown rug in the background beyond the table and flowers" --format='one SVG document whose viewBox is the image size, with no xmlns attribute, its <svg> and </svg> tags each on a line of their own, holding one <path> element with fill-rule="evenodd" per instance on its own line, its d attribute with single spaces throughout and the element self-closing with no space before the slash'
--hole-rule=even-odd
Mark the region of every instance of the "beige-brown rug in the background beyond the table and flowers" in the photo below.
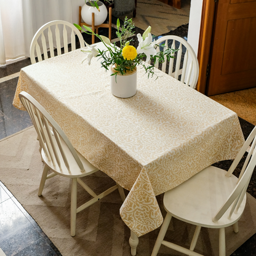
<svg viewBox="0 0 256 256">
<path fill-rule="evenodd" d="M 136 17 L 132 18 L 132 14 L 128 14 L 127 17 L 132 18 L 135 26 L 142 30 L 151 26 L 151 33 L 159 36 L 188 24 L 190 1 L 182 0 L 182 9 L 178 10 L 158 0 L 138 0 Z M 119 18 L 124 20 L 125 17 L 124 15 Z"/>
</svg>

